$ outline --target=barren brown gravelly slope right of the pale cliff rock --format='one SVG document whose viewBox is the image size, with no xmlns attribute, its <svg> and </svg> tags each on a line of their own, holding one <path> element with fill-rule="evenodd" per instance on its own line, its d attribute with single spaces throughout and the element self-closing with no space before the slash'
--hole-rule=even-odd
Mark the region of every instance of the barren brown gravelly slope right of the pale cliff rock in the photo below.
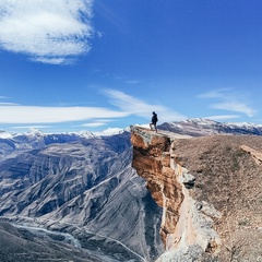
<svg viewBox="0 0 262 262">
<path fill-rule="evenodd" d="M 262 138 L 212 135 L 174 143 L 178 160 L 196 178 L 192 196 L 223 214 L 215 223 L 223 240 L 219 261 L 262 261 L 262 162 L 247 152 L 259 157 Z"/>
</svg>

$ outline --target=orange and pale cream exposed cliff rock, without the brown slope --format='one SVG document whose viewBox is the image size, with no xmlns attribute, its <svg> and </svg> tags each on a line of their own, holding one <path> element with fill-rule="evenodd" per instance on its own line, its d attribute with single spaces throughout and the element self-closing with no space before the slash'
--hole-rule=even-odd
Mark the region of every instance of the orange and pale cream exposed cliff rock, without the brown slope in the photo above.
<svg viewBox="0 0 262 262">
<path fill-rule="evenodd" d="M 198 202 L 190 195 L 195 178 L 175 154 L 174 141 L 189 136 L 156 133 L 140 127 L 131 127 L 131 131 L 132 166 L 147 181 L 153 199 L 163 207 L 160 236 L 166 250 L 192 247 L 198 255 L 200 250 L 215 252 L 221 239 L 213 229 L 213 219 L 221 214 L 207 202 Z M 159 261 L 169 261 L 165 255 Z"/>
</svg>

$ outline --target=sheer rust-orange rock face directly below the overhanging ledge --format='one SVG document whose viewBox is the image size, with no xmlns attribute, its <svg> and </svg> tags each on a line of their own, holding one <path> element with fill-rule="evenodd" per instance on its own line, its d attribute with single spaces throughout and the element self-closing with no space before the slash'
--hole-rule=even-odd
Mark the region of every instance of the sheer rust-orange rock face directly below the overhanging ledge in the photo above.
<svg viewBox="0 0 262 262">
<path fill-rule="evenodd" d="M 146 179 L 156 203 L 164 207 L 160 235 L 165 245 L 169 246 L 168 237 L 175 233 L 178 210 L 184 198 L 181 184 L 174 179 L 175 172 L 170 167 L 170 138 L 141 128 L 132 128 L 132 131 L 133 167 Z"/>
</svg>

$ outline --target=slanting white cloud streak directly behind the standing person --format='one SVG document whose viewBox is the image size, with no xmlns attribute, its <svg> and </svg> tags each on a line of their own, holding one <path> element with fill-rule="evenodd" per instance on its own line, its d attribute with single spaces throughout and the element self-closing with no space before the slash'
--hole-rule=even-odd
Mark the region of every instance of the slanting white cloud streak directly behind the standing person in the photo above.
<svg viewBox="0 0 262 262">
<path fill-rule="evenodd" d="M 160 122 L 186 119 L 184 116 L 174 111 L 170 108 L 162 105 L 147 104 L 136 97 L 127 95 L 120 91 L 105 90 L 105 93 L 110 97 L 110 103 L 114 106 L 120 108 L 123 111 L 128 111 L 131 115 L 151 119 L 152 111 L 156 111 L 158 114 Z"/>
</svg>

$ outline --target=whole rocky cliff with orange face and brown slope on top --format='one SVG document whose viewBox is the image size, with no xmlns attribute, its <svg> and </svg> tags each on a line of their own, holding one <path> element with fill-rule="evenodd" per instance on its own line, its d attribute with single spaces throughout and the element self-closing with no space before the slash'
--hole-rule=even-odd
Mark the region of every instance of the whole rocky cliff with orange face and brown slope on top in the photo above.
<svg viewBox="0 0 262 262">
<path fill-rule="evenodd" d="M 260 136 L 131 131 L 132 166 L 163 207 L 158 261 L 262 258 Z"/>
</svg>

